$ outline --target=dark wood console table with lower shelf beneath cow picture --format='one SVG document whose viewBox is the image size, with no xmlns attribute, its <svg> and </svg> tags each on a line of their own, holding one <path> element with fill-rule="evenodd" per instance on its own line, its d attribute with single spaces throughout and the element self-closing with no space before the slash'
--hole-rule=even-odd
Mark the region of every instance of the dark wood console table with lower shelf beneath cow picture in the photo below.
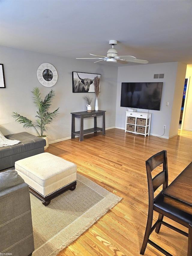
<svg viewBox="0 0 192 256">
<path fill-rule="evenodd" d="M 98 132 L 102 131 L 102 134 L 105 135 L 105 110 L 93 110 L 92 112 L 74 112 L 71 113 L 72 115 L 72 121 L 71 121 L 71 139 L 75 138 L 76 136 L 79 136 L 79 141 L 83 140 L 83 134 L 88 134 L 91 132 Z M 103 127 L 99 128 L 97 127 L 97 116 L 103 116 Z M 75 131 L 75 117 L 80 119 L 80 131 Z M 94 128 L 83 130 L 83 119 L 84 118 L 90 118 L 94 117 Z"/>
</svg>

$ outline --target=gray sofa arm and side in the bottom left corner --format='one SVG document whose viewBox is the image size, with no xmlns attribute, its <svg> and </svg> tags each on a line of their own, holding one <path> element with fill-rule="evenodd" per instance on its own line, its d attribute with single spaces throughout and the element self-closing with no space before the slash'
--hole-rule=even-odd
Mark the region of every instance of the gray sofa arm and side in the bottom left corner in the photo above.
<svg viewBox="0 0 192 256">
<path fill-rule="evenodd" d="M 0 254 L 32 255 L 29 185 L 13 170 L 0 173 L 0 216 Z"/>
</svg>

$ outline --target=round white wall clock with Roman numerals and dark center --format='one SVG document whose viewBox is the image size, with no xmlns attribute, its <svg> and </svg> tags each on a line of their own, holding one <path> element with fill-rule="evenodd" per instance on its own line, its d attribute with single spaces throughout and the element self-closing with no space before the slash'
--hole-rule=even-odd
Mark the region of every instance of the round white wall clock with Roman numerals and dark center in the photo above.
<svg viewBox="0 0 192 256">
<path fill-rule="evenodd" d="M 56 68 L 50 63 L 41 64 L 37 69 L 37 78 L 43 86 L 54 86 L 58 78 Z"/>
</svg>

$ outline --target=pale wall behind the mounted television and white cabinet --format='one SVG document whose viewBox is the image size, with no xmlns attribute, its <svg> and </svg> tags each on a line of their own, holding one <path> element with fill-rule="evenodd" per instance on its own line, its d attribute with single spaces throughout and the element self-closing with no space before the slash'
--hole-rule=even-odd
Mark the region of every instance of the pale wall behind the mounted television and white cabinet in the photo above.
<svg viewBox="0 0 192 256">
<path fill-rule="evenodd" d="M 179 64 L 178 62 L 171 63 L 160 63 L 160 64 L 147 64 L 138 66 L 126 66 L 118 68 L 118 80 L 117 80 L 117 105 L 116 105 L 116 127 L 124 129 L 125 128 L 125 111 L 128 110 L 126 107 L 120 107 L 121 101 L 121 83 L 122 82 L 163 82 L 163 92 L 161 100 L 161 109 L 157 110 L 143 110 L 138 109 L 140 112 L 152 113 L 151 131 L 150 134 L 155 136 L 161 136 L 164 138 L 172 137 L 175 134 L 175 130 L 171 130 L 170 125 L 172 118 L 173 102 L 182 101 L 181 95 L 175 95 L 175 87 L 180 86 L 183 90 L 184 78 L 185 78 L 185 64 Z M 177 77 L 177 72 L 179 70 L 179 75 L 181 79 L 181 84 L 179 85 L 179 78 Z M 154 74 L 165 74 L 164 79 L 154 79 Z M 169 102 L 169 106 L 166 106 L 166 102 Z M 181 106 L 181 104 L 180 104 Z M 180 107 L 181 109 L 181 107 Z M 179 118 L 180 110 L 176 113 L 176 118 Z M 166 125 L 164 133 L 164 125 Z M 177 123 L 178 130 L 179 122 Z"/>
</svg>

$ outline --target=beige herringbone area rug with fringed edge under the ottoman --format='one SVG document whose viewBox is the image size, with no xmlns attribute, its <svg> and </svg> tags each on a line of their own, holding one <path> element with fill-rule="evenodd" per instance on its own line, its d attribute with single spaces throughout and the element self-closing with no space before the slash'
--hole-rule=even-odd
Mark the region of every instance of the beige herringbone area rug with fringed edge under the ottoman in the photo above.
<svg viewBox="0 0 192 256">
<path fill-rule="evenodd" d="M 122 198 L 77 174 L 77 185 L 48 206 L 30 193 L 35 251 L 55 256 L 77 239 Z"/>
</svg>

